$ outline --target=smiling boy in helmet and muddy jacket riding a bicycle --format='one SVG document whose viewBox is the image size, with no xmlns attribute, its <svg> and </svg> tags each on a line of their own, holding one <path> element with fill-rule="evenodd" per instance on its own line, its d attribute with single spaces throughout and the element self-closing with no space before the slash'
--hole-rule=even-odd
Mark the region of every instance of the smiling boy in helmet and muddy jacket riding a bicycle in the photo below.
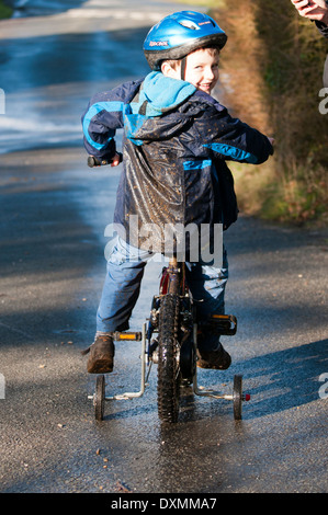
<svg viewBox="0 0 328 515">
<path fill-rule="evenodd" d="M 114 222 L 123 227 L 108 261 L 97 313 L 97 333 L 87 369 L 113 369 L 111 333 L 128 329 L 147 259 L 163 253 L 162 228 L 177 224 L 224 230 L 237 219 L 234 180 L 226 160 L 261 163 L 272 153 L 269 138 L 231 118 L 211 96 L 218 79 L 218 54 L 227 36 L 206 14 L 182 11 L 148 33 L 145 56 L 152 71 L 95 95 L 83 116 L 89 154 L 118 164 L 114 135 L 124 127 L 123 174 Z M 137 217 L 138 230 L 129 230 Z M 145 236 L 145 226 L 157 228 Z M 186 281 L 205 322 L 197 342 L 197 366 L 226 369 L 230 356 L 206 319 L 224 313 L 228 277 L 226 251 L 220 266 L 186 259 Z"/>
</svg>

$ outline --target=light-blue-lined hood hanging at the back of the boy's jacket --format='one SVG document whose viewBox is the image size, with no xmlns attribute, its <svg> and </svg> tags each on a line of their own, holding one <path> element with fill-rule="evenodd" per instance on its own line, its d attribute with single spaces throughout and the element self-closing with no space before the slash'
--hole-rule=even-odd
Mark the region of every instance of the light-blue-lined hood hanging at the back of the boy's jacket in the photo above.
<svg viewBox="0 0 328 515">
<path fill-rule="evenodd" d="M 125 111 L 126 137 L 135 145 L 172 137 L 189 121 L 189 116 L 176 108 L 195 91 L 189 82 L 151 71 Z"/>
</svg>

